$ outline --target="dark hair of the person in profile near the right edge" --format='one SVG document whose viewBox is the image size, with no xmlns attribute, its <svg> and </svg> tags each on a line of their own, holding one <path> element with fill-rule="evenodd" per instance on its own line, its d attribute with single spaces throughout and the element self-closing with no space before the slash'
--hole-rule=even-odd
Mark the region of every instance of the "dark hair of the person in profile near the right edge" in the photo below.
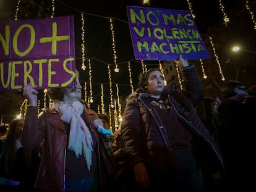
<svg viewBox="0 0 256 192">
<path fill-rule="evenodd" d="M 236 88 L 241 88 L 242 86 L 245 85 L 241 81 L 229 80 L 224 83 L 221 93 L 224 98 L 228 99 L 237 94 L 235 91 Z"/>
</svg>

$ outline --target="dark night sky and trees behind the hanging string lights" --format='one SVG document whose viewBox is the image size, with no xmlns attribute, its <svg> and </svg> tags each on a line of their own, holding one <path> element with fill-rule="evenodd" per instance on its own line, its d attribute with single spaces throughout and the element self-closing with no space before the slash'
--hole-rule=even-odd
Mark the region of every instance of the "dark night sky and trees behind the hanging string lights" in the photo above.
<svg viewBox="0 0 256 192">
<path fill-rule="evenodd" d="M 43 19 L 51 16 L 51 0 L 48 1 L 20 1 L 18 19 Z M 128 62 L 132 74 L 132 84 L 134 90 L 137 88 L 138 76 L 142 71 L 142 64 L 134 58 L 132 41 L 130 38 L 129 23 L 127 20 L 126 6 L 150 6 L 163 9 L 189 10 L 186 0 L 151 0 L 149 5 L 143 5 L 143 0 L 100 0 L 100 1 L 54 1 L 54 17 L 63 15 L 74 15 L 75 19 L 75 51 L 76 65 L 80 72 L 82 85 L 87 83 L 87 96 L 90 96 L 88 59 L 92 65 L 92 93 L 93 103 L 90 108 L 98 111 L 101 104 L 101 84 L 104 86 L 105 111 L 109 105 L 109 73 L 108 65 L 111 69 L 111 83 L 113 98 L 116 98 L 116 84 L 119 86 L 119 96 L 124 103 L 130 94 L 130 80 Z M 203 60 L 203 66 L 207 78 L 203 78 L 202 67 L 199 60 L 189 61 L 196 65 L 198 75 L 202 80 L 205 96 L 220 97 L 221 85 L 226 80 L 244 81 L 248 86 L 256 84 L 255 81 L 255 54 L 249 52 L 232 52 L 234 44 L 242 49 L 256 51 L 254 22 L 249 10 L 245 7 L 245 1 L 221 1 L 224 11 L 230 19 L 228 26 L 223 24 L 223 12 L 220 9 L 220 1 L 193 1 L 193 14 L 198 30 L 203 36 L 210 59 Z M 248 1 L 255 12 L 256 1 Z M 0 20 L 14 20 L 17 1 L 0 0 Z M 85 19 L 85 66 L 82 70 L 81 53 L 81 14 Z M 112 36 L 109 19 L 113 18 L 114 36 L 116 44 L 116 55 L 119 73 L 114 72 L 114 57 L 112 47 Z M 214 45 L 211 44 L 210 38 Z M 215 50 L 215 52 L 213 52 Z M 148 69 L 159 67 L 158 61 L 144 61 Z M 221 80 L 220 67 L 225 80 Z M 6 94 L 8 96 L 6 96 Z M 15 98 L 15 95 L 18 95 Z M 11 96 L 10 96 L 11 95 Z M 14 98 L 12 98 L 12 96 Z M 83 91 L 83 97 L 85 93 Z M 15 100 L 15 102 L 14 102 Z M 46 99 L 47 100 L 47 99 Z M 14 92 L 0 94 L 0 112 L 4 115 L 19 112 L 23 102 L 22 94 Z M 11 103 L 10 103 L 11 102 Z M 17 102 L 17 103 L 16 103 Z M 14 104 L 15 103 L 15 104 Z M 9 107 L 6 107 L 9 106 Z M 11 107 L 10 107 L 11 106 Z M 40 90 L 40 107 L 44 107 L 43 90 Z M 122 106 L 123 107 L 123 106 Z"/>
</svg>

